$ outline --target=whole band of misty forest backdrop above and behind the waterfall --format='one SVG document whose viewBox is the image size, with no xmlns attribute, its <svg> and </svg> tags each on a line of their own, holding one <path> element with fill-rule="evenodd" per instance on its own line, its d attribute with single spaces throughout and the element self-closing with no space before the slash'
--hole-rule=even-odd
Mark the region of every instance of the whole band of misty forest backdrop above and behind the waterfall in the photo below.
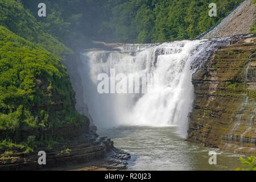
<svg viewBox="0 0 256 182">
<path fill-rule="evenodd" d="M 214 26 L 243 0 L 44 0 L 47 17 L 37 16 L 40 0 L 23 5 L 42 27 L 68 44 L 81 37 L 106 42 L 151 43 L 193 39 Z M 217 17 L 209 4 L 216 3 Z M 86 40 L 86 39 L 85 39 Z"/>
</svg>

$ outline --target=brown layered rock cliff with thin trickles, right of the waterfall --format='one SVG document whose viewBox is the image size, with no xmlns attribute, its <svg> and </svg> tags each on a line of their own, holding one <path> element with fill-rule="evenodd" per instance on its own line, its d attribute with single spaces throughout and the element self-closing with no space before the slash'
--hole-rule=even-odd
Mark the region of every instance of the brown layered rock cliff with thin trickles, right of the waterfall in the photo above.
<svg viewBox="0 0 256 182">
<path fill-rule="evenodd" d="M 192 82 L 188 139 L 256 154 L 256 35 L 218 49 Z"/>
</svg>

